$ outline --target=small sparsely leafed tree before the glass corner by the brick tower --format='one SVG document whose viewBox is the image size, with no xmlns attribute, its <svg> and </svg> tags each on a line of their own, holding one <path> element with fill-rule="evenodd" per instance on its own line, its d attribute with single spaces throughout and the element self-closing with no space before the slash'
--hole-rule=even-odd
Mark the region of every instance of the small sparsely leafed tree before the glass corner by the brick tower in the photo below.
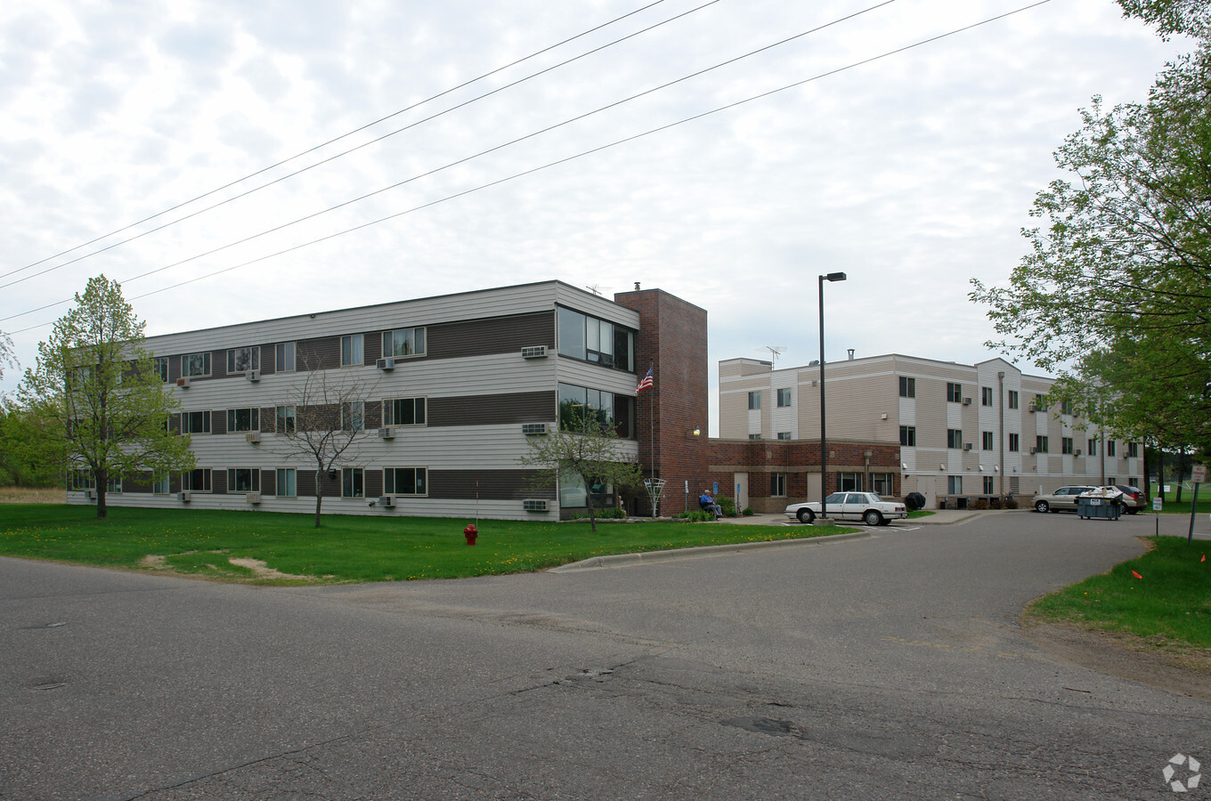
<svg viewBox="0 0 1211 801">
<path fill-rule="evenodd" d="M 536 489 L 557 486 L 561 482 L 579 482 L 585 488 L 589 524 L 597 531 L 595 486 L 614 485 L 615 490 L 643 483 L 643 472 L 633 456 L 622 451 L 622 440 L 614 423 L 597 414 L 561 413 L 558 431 L 529 437 L 529 453 L 518 459 L 536 467 Z M 568 425 L 574 420 L 574 425 Z"/>
</svg>

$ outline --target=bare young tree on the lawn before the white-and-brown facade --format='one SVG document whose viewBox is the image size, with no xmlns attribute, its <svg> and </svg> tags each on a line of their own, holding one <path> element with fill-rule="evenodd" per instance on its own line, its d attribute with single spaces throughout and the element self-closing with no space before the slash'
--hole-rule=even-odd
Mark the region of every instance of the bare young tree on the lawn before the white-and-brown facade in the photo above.
<svg viewBox="0 0 1211 801">
<path fill-rule="evenodd" d="M 285 403 L 276 408 L 282 454 L 315 465 L 315 528 L 320 528 L 323 478 L 338 465 L 356 460 L 366 439 L 366 398 L 377 382 L 344 370 L 323 369 L 305 357 Z"/>
</svg>

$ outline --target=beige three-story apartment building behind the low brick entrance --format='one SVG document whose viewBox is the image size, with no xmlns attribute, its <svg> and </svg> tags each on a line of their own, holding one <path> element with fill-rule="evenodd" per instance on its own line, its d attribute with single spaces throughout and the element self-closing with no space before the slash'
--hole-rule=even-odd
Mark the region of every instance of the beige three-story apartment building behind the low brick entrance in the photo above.
<svg viewBox="0 0 1211 801">
<path fill-rule="evenodd" d="M 830 491 L 918 491 L 932 508 L 942 500 L 965 506 L 1064 484 L 1142 486 L 1138 443 L 1108 438 L 1063 407 L 1048 408 L 1052 380 L 1025 375 L 1004 359 L 957 364 L 891 353 L 825 368 L 830 451 L 834 442 L 900 446 L 899 468 L 846 467 L 831 456 Z M 819 442 L 820 365 L 719 362 L 719 437 Z M 817 500 L 819 463 L 814 474 L 804 469 L 808 500 Z"/>
</svg>

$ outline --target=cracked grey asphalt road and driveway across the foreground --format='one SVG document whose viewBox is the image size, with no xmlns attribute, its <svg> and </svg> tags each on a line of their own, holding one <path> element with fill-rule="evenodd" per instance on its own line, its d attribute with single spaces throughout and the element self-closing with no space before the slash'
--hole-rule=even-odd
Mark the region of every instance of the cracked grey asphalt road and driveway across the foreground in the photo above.
<svg viewBox="0 0 1211 801">
<path fill-rule="evenodd" d="M 0 559 L 0 799 L 1175 797 L 1211 704 L 1017 622 L 1153 525 L 312 588 Z"/>
</svg>

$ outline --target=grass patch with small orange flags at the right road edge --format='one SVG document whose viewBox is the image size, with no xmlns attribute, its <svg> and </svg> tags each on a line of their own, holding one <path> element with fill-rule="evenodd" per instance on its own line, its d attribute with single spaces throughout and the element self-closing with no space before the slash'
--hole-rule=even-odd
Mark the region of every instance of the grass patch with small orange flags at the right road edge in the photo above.
<svg viewBox="0 0 1211 801">
<path fill-rule="evenodd" d="M 1038 599 L 1028 615 L 1211 647 L 1211 543 L 1150 540 L 1138 559 Z"/>
</svg>

